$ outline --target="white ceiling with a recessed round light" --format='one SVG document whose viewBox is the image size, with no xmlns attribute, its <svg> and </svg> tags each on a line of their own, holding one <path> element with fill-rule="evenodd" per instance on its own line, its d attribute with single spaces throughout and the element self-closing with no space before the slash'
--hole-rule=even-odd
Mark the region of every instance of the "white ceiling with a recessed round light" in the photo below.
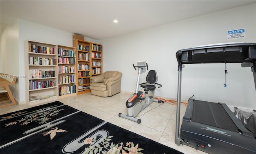
<svg viewBox="0 0 256 154">
<path fill-rule="evenodd" d="M 100 40 L 254 2 L 256 0 L 0 0 L 1 29 L 20 18 Z M 115 24 L 113 20 L 119 22 Z"/>
</svg>

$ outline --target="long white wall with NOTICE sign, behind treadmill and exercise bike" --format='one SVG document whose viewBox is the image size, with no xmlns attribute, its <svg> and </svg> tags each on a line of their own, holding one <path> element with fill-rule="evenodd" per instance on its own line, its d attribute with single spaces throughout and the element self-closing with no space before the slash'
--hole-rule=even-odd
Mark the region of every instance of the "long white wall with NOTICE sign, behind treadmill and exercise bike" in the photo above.
<svg viewBox="0 0 256 154">
<path fill-rule="evenodd" d="M 178 12 L 177 12 L 178 13 Z M 246 28 L 246 38 L 228 40 L 227 31 Z M 121 91 L 135 91 L 137 71 L 132 63 L 146 61 L 158 73 L 157 96 L 177 98 L 178 63 L 175 53 L 197 45 L 223 42 L 256 42 L 256 3 L 190 18 L 130 34 L 102 39 L 103 70 L 123 73 Z M 223 102 L 229 106 L 256 108 L 256 91 L 250 68 L 227 64 L 186 65 L 182 71 L 182 99 Z M 147 72 L 142 74 L 145 81 Z"/>
</svg>

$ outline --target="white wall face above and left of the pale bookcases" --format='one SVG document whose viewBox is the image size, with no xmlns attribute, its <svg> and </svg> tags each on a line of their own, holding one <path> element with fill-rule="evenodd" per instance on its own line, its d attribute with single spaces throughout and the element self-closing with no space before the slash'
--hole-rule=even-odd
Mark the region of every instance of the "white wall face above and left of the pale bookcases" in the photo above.
<svg viewBox="0 0 256 154">
<path fill-rule="evenodd" d="M 47 26 L 40 24 L 28 22 L 25 20 L 18 20 L 19 23 L 19 75 L 25 75 L 25 41 L 39 41 L 44 43 L 65 45 L 72 47 L 72 33 L 64 32 L 61 30 L 56 30 Z M 19 78 L 20 80 L 20 104 L 26 103 L 26 89 L 25 89 L 25 79 Z"/>
</svg>

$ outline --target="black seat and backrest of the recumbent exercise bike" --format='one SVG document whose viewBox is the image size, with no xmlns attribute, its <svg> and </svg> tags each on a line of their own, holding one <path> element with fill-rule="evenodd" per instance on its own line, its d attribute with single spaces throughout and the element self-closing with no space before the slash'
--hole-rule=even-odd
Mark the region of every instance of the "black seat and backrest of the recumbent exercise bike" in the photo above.
<svg viewBox="0 0 256 154">
<path fill-rule="evenodd" d="M 148 71 L 148 75 L 146 77 L 146 81 L 145 83 L 141 83 L 140 87 L 144 88 L 144 89 L 148 89 L 150 91 L 154 91 L 156 89 L 156 82 L 157 82 L 158 78 L 157 78 L 157 73 L 155 70 L 150 70 Z"/>
</svg>

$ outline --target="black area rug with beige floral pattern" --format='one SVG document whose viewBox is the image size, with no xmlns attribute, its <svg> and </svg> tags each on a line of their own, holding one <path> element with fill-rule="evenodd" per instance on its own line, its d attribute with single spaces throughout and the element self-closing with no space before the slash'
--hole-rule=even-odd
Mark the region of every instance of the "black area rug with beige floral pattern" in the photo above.
<svg viewBox="0 0 256 154">
<path fill-rule="evenodd" d="M 59 101 L 0 118 L 1 154 L 182 154 Z"/>
</svg>

